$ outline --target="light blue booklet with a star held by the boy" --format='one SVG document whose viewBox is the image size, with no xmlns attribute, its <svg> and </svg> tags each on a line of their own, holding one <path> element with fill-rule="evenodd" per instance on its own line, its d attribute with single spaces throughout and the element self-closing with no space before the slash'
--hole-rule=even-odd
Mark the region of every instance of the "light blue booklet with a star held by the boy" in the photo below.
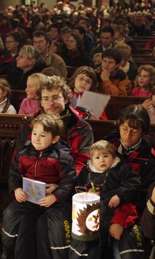
<svg viewBox="0 0 155 259">
<path fill-rule="evenodd" d="M 39 200 L 45 197 L 46 183 L 23 177 L 23 191 L 27 194 L 27 200 L 39 204 Z"/>
</svg>

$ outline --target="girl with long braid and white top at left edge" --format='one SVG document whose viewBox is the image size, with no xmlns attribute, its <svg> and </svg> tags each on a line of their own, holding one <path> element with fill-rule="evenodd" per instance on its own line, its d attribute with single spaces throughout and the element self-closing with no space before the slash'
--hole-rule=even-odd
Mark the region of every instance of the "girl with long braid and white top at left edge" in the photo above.
<svg viewBox="0 0 155 259">
<path fill-rule="evenodd" d="M 10 104 L 10 84 L 4 78 L 0 78 L 0 112 L 1 113 L 17 113 L 13 105 Z"/>
</svg>

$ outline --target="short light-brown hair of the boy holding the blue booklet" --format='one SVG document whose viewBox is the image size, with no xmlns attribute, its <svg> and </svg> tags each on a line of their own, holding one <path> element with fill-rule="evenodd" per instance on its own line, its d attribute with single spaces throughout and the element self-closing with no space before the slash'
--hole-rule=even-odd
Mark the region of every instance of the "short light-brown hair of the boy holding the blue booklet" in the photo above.
<svg viewBox="0 0 155 259">
<path fill-rule="evenodd" d="M 63 133 L 63 122 L 59 114 L 48 115 L 41 114 L 35 117 L 31 122 L 33 129 L 34 125 L 41 124 L 44 127 L 45 132 L 51 132 L 52 137 L 62 136 Z"/>
</svg>

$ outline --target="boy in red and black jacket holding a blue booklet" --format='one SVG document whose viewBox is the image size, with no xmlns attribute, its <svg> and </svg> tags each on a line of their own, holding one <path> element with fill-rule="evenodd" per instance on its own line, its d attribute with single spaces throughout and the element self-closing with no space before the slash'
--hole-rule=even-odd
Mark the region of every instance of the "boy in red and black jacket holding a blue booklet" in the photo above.
<svg viewBox="0 0 155 259">
<path fill-rule="evenodd" d="M 27 141 L 23 149 L 15 155 L 9 171 L 9 191 L 15 194 L 16 200 L 3 212 L 3 259 L 14 254 L 18 225 L 24 217 L 32 215 L 37 222 L 38 217 L 45 213 L 49 222 L 50 239 L 53 214 L 56 213 L 59 217 L 63 213 L 66 217 L 65 211 L 71 211 L 70 200 L 76 183 L 76 172 L 69 145 L 60 141 L 63 122 L 59 115 L 41 114 L 32 120 L 31 127 L 31 141 Z M 34 187 L 34 182 L 27 184 L 25 192 L 23 177 L 35 180 L 37 186 Z M 38 186 L 40 182 L 47 184 L 45 197 L 41 196 L 41 187 Z M 51 183 L 58 184 L 52 193 L 48 185 Z M 61 225 L 57 226 L 57 232 L 59 229 L 62 233 Z M 63 234 L 65 236 L 65 230 Z M 53 246 L 53 243 L 50 245 Z M 24 250 L 25 247 L 26 242 Z"/>
</svg>

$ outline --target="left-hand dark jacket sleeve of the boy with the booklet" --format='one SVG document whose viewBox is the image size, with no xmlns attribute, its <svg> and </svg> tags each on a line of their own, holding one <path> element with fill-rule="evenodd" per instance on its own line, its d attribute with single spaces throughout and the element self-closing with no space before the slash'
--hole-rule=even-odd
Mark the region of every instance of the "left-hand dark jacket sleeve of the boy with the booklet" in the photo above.
<svg viewBox="0 0 155 259">
<path fill-rule="evenodd" d="M 9 170 L 9 180 L 8 180 L 8 185 L 9 185 L 9 192 L 12 193 L 16 188 L 22 188 L 23 183 L 22 183 L 22 176 L 18 172 L 19 168 L 19 153 L 15 155 L 14 160 L 10 166 Z"/>
</svg>

